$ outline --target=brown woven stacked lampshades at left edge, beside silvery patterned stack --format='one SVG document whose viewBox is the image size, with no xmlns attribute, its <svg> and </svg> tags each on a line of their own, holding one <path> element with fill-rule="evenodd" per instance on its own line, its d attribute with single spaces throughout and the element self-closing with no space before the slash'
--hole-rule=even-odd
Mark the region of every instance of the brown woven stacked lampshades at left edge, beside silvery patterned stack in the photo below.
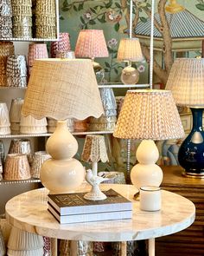
<svg viewBox="0 0 204 256">
<path fill-rule="evenodd" d="M 14 44 L 0 42 L 0 86 L 6 86 L 6 64 L 10 55 L 14 55 Z"/>
</svg>

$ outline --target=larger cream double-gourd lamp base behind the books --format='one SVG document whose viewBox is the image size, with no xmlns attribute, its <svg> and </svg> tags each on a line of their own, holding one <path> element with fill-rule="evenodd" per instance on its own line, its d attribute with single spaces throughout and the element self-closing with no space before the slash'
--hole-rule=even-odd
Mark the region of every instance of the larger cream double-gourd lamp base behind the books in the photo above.
<svg viewBox="0 0 204 256">
<path fill-rule="evenodd" d="M 48 138 L 46 150 L 52 156 L 41 165 L 40 179 L 49 194 L 66 194 L 80 187 L 85 169 L 73 158 L 78 143 L 67 128 L 67 121 L 58 121 L 54 134 Z"/>
</svg>

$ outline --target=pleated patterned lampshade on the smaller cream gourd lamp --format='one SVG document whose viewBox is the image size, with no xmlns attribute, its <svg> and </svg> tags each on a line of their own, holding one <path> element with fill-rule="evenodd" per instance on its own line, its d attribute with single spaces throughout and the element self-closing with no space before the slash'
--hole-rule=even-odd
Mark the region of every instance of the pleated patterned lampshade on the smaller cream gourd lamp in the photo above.
<svg viewBox="0 0 204 256">
<path fill-rule="evenodd" d="M 128 90 L 113 135 L 124 139 L 168 140 L 184 137 L 169 90 Z"/>
</svg>

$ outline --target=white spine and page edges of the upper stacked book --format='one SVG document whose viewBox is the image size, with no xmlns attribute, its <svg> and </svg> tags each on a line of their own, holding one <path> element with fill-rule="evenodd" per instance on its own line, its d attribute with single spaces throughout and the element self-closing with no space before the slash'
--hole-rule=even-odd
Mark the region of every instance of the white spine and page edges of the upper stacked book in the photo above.
<svg viewBox="0 0 204 256">
<path fill-rule="evenodd" d="M 105 205 L 92 205 L 92 206 L 76 206 L 76 207 L 58 207 L 53 200 L 48 199 L 48 203 L 54 207 L 61 215 L 68 214 L 84 214 L 84 213 L 101 213 L 101 212 L 114 212 L 114 211 L 131 211 L 131 202 L 113 203 Z"/>
</svg>

